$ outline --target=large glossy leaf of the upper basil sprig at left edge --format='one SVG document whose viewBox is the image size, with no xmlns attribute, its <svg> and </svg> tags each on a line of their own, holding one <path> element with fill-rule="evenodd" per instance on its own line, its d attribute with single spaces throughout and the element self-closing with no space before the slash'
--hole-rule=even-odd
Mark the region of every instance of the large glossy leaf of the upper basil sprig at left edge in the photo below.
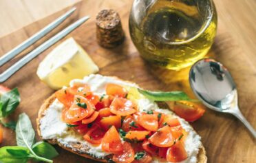
<svg viewBox="0 0 256 163">
<path fill-rule="evenodd" d="M 12 89 L 11 91 L 6 92 L 0 98 L 1 106 L 0 106 L 0 116 L 6 117 L 9 116 L 12 111 L 14 111 L 21 98 L 19 96 L 19 91 L 17 88 Z"/>
</svg>

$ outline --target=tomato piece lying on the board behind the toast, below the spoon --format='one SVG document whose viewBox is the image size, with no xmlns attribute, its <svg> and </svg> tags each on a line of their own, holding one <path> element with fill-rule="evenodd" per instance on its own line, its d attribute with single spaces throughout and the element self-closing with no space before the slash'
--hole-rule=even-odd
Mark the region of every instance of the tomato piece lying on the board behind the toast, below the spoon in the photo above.
<svg viewBox="0 0 256 163">
<path fill-rule="evenodd" d="M 193 122 L 203 116 L 205 107 L 200 103 L 179 101 L 175 102 L 173 111 L 186 121 Z"/>
</svg>

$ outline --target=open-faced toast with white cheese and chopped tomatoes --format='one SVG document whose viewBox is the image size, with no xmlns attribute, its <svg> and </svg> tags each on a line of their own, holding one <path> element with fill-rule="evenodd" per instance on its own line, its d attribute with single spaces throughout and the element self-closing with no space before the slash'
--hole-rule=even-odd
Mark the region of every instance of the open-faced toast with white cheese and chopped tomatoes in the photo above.
<svg viewBox="0 0 256 163">
<path fill-rule="evenodd" d="M 43 140 L 100 162 L 206 162 L 184 119 L 116 77 L 90 75 L 45 100 L 37 119 Z"/>
</svg>

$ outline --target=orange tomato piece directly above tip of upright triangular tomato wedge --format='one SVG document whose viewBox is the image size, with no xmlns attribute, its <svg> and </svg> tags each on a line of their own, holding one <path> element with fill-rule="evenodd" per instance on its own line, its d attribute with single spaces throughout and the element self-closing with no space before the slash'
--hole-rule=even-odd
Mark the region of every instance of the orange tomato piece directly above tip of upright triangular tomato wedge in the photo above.
<svg viewBox="0 0 256 163">
<path fill-rule="evenodd" d="M 111 126 L 114 126 L 116 127 L 116 129 L 119 129 L 121 127 L 121 117 L 120 116 L 104 117 L 100 120 L 99 124 L 105 130 L 108 130 L 109 127 Z"/>
</svg>

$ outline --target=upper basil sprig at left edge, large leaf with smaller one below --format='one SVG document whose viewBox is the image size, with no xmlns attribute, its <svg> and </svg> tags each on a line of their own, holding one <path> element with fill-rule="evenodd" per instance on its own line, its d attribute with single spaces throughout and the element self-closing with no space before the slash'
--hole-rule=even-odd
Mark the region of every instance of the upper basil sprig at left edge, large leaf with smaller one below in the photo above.
<svg viewBox="0 0 256 163">
<path fill-rule="evenodd" d="M 3 93 L 3 92 L 2 92 Z M 17 88 L 14 88 L 10 91 L 6 91 L 0 96 L 0 123 L 4 127 L 9 127 L 10 129 L 15 129 L 15 122 L 4 122 L 3 118 L 6 118 L 10 115 L 21 102 L 19 96 L 19 91 Z"/>
</svg>

